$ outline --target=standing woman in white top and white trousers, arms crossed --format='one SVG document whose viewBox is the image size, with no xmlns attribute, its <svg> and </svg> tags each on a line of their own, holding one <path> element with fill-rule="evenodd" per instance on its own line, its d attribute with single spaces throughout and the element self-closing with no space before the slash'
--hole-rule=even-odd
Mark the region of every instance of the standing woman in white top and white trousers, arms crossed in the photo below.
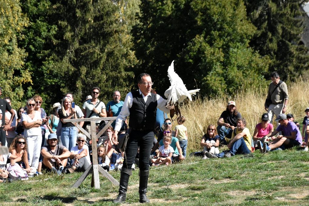
<svg viewBox="0 0 309 206">
<path fill-rule="evenodd" d="M 42 143 L 41 124 L 42 118 L 38 111 L 34 110 L 34 99 L 28 99 L 27 111 L 21 115 L 21 122 L 23 124 L 23 135 L 28 144 L 28 162 L 31 167 L 38 168 L 39 157 Z"/>
</svg>

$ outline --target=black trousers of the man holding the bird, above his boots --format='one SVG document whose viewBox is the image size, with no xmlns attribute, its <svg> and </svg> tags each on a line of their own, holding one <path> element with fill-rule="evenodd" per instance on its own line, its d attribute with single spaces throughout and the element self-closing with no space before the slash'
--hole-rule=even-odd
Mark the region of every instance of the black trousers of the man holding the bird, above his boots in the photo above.
<svg viewBox="0 0 309 206">
<path fill-rule="evenodd" d="M 123 161 L 123 168 L 131 169 L 134 158 L 137 154 L 139 147 L 139 169 L 146 171 L 149 169 L 149 157 L 151 148 L 153 146 L 153 141 L 155 138 L 155 133 L 151 130 L 149 131 L 137 131 L 132 130 L 129 135 L 129 140 L 125 149 L 125 159 Z"/>
</svg>

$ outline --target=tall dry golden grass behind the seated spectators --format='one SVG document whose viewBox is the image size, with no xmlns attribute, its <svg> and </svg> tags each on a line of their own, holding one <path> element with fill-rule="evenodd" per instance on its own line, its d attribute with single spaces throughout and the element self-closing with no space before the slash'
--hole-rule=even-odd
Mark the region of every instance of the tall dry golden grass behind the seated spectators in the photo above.
<svg viewBox="0 0 309 206">
<path fill-rule="evenodd" d="M 289 103 L 287 113 L 294 115 L 295 121 L 300 124 L 305 115 L 304 110 L 309 107 L 309 82 L 299 80 L 288 85 Z M 259 90 L 244 89 L 235 96 L 225 96 L 217 99 L 199 99 L 188 103 L 181 107 L 182 115 L 186 117 L 184 125 L 188 128 L 188 150 L 201 150 L 201 137 L 206 131 L 204 127 L 209 124 L 217 126 L 217 120 L 222 111 L 226 109 L 227 102 L 234 100 L 236 108 L 247 121 L 247 128 L 253 134 L 255 125 L 260 122 L 260 118 L 265 111 L 264 102 L 268 88 L 260 88 Z M 286 113 L 286 114 L 287 114 Z M 176 126 L 176 121 L 173 126 Z M 273 122 L 276 128 L 276 123 Z"/>
</svg>

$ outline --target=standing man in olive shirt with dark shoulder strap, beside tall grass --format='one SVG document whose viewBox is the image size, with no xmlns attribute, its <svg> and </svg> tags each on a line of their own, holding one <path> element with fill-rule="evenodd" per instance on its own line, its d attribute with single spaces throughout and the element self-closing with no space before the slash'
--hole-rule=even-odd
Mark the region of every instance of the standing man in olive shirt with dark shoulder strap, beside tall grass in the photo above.
<svg viewBox="0 0 309 206">
<path fill-rule="evenodd" d="M 265 110 L 268 111 L 269 122 L 273 122 L 273 116 L 286 112 L 286 105 L 289 101 L 289 92 L 286 83 L 280 80 L 277 72 L 271 74 L 272 82 L 269 84 L 268 94 L 265 101 Z M 269 105 L 267 101 L 269 101 Z"/>
</svg>

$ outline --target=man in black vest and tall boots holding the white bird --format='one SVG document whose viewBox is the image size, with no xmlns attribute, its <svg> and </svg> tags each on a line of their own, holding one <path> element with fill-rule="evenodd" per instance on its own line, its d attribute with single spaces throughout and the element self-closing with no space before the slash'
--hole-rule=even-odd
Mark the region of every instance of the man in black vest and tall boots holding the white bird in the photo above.
<svg viewBox="0 0 309 206">
<path fill-rule="evenodd" d="M 126 199 L 129 177 L 132 174 L 132 164 L 139 148 L 139 201 L 149 202 L 146 196 L 148 176 L 149 176 L 149 156 L 155 137 L 154 126 L 156 121 L 157 107 L 164 111 L 173 109 L 166 107 L 167 100 L 160 95 L 150 93 L 151 78 L 149 74 L 142 73 L 137 79 L 139 90 L 129 92 L 125 97 L 124 105 L 116 119 L 115 133 L 112 142 L 118 144 L 117 134 L 127 117 L 130 117 L 129 128 L 131 133 L 125 149 L 125 160 L 121 168 L 119 195 L 114 200 L 121 203 Z"/>
</svg>

